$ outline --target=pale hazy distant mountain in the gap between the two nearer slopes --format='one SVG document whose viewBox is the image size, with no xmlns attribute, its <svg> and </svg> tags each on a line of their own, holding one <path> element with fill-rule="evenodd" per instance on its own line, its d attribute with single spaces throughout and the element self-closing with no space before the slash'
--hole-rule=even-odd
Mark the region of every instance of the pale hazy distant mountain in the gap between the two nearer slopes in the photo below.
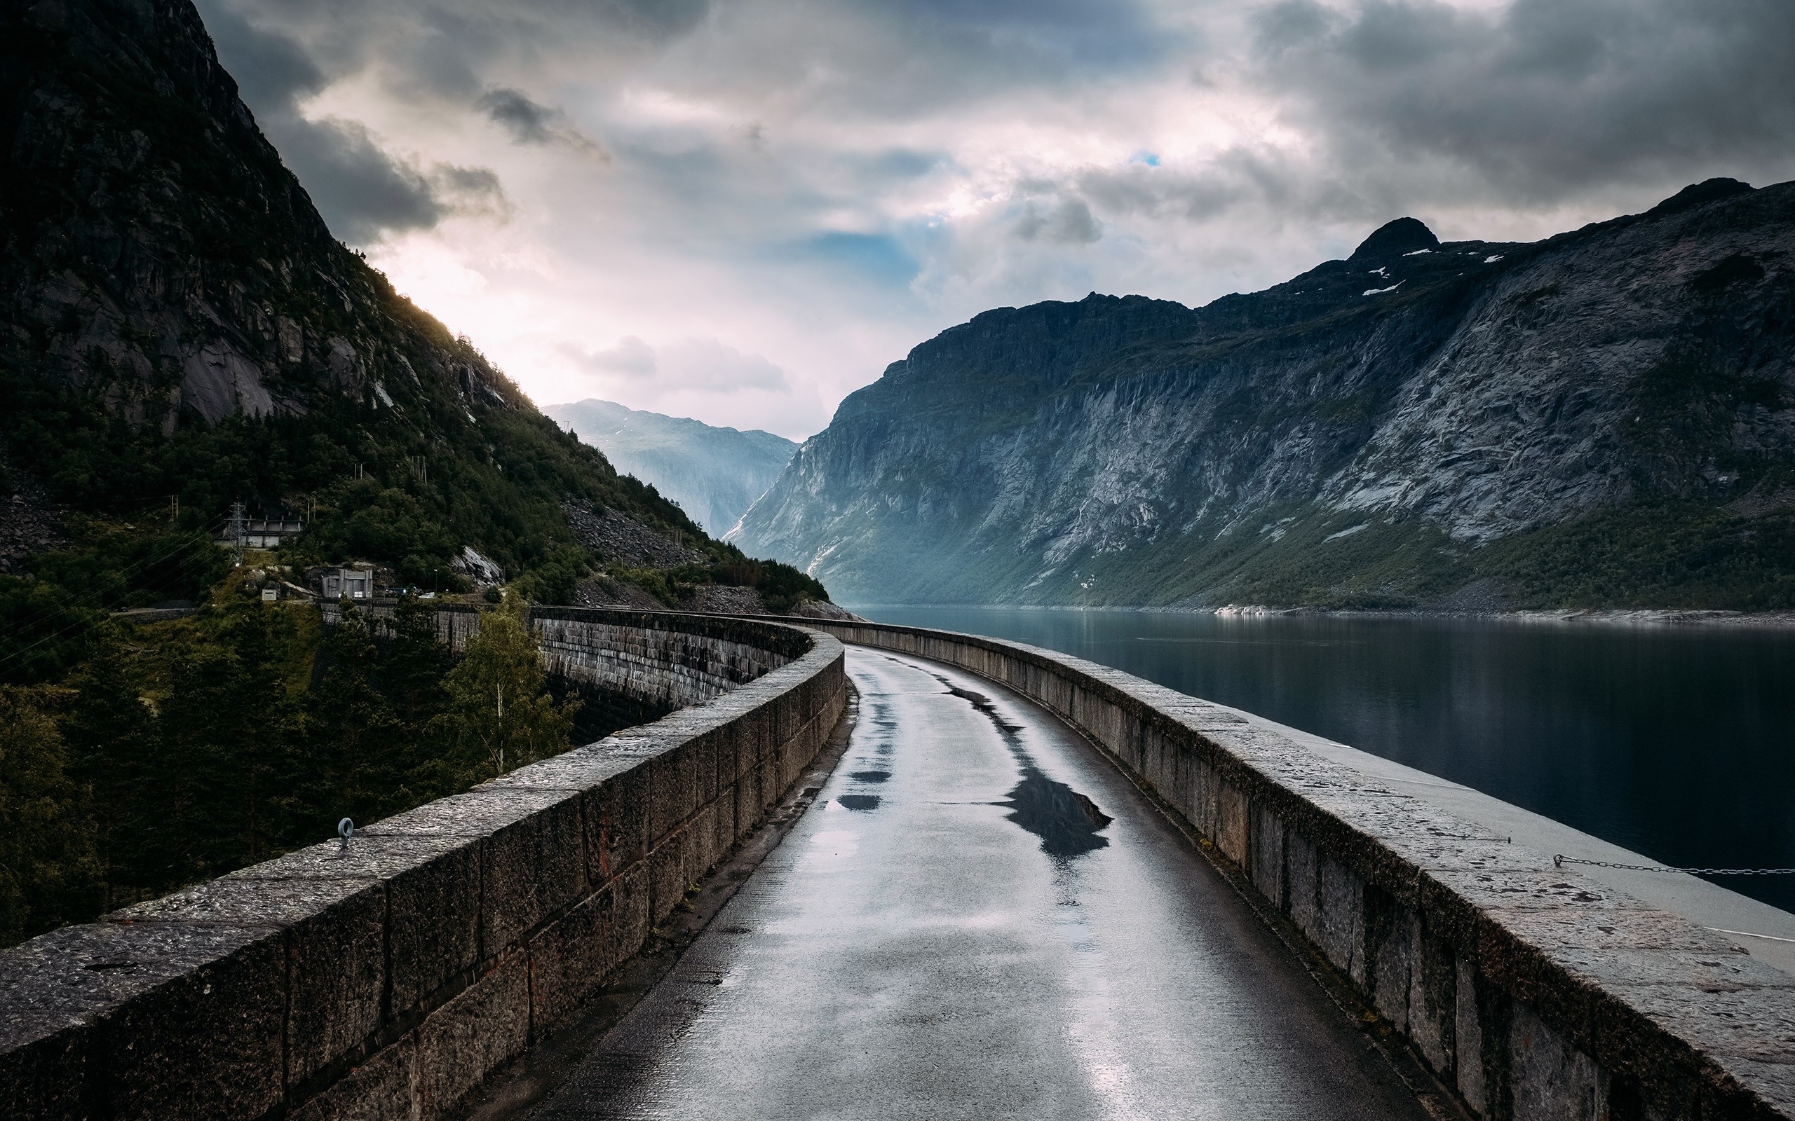
<svg viewBox="0 0 1795 1121">
<path fill-rule="evenodd" d="M 619 470 L 679 502 L 707 533 L 725 534 L 766 493 L 797 445 L 750 429 L 713 429 L 616 402 L 544 405 L 542 413 L 605 452 Z"/>
</svg>

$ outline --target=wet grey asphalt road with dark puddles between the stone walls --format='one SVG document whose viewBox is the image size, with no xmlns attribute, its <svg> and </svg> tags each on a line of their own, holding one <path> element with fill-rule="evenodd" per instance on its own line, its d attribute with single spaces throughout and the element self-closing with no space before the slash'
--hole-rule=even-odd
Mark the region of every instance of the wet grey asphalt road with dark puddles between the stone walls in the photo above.
<svg viewBox="0 0 1795 1121">
<path fill-rule="evenodd" d="M 847 667 L 822 798 L 531 1117 L 1425 1117 L 1070 728 Z"/>
</svg>

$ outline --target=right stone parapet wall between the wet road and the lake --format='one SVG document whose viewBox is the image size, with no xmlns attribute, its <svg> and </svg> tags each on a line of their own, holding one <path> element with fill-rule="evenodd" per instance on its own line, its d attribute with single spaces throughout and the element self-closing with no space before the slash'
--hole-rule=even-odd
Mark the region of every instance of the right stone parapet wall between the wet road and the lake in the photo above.
<svg viewBox="0 0 1795 1121">
<path fill-rule="evenodd" d="M 1002 682 L 1081 728 L 1481 1117 L 1795 1117 L 1795 978 L 1684 918 L 1122 671 L 948 631 L 810 626 Z"/>
</svg>

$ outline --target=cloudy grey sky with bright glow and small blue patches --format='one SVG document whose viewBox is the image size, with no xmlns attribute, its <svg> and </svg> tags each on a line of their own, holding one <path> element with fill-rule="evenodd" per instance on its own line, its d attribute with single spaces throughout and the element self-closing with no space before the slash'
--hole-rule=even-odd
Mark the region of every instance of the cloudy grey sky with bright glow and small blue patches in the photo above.
<svg viewBox="0 0 1795 1121">
<path fill-rule="evenodd" d="M 1795 178 L 1788 0 L 199 7 L 330 228 L 538 404 L 792 438 L 991 307 Z"/>
</svg>

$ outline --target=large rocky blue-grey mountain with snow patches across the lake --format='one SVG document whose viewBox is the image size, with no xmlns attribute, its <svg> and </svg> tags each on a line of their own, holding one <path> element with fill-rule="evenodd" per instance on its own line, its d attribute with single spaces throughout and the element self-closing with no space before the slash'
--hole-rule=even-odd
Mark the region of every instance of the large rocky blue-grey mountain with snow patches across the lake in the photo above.
<svg viewBox="0 0 1795 1121">
<path fill-rule="evenodd" d="M 1795 183 L 1531 244 L 1414 219 L 1188 308 L 998 308 L 736 540 L 849 603 L 1795 606 Z"/>
</svg>

